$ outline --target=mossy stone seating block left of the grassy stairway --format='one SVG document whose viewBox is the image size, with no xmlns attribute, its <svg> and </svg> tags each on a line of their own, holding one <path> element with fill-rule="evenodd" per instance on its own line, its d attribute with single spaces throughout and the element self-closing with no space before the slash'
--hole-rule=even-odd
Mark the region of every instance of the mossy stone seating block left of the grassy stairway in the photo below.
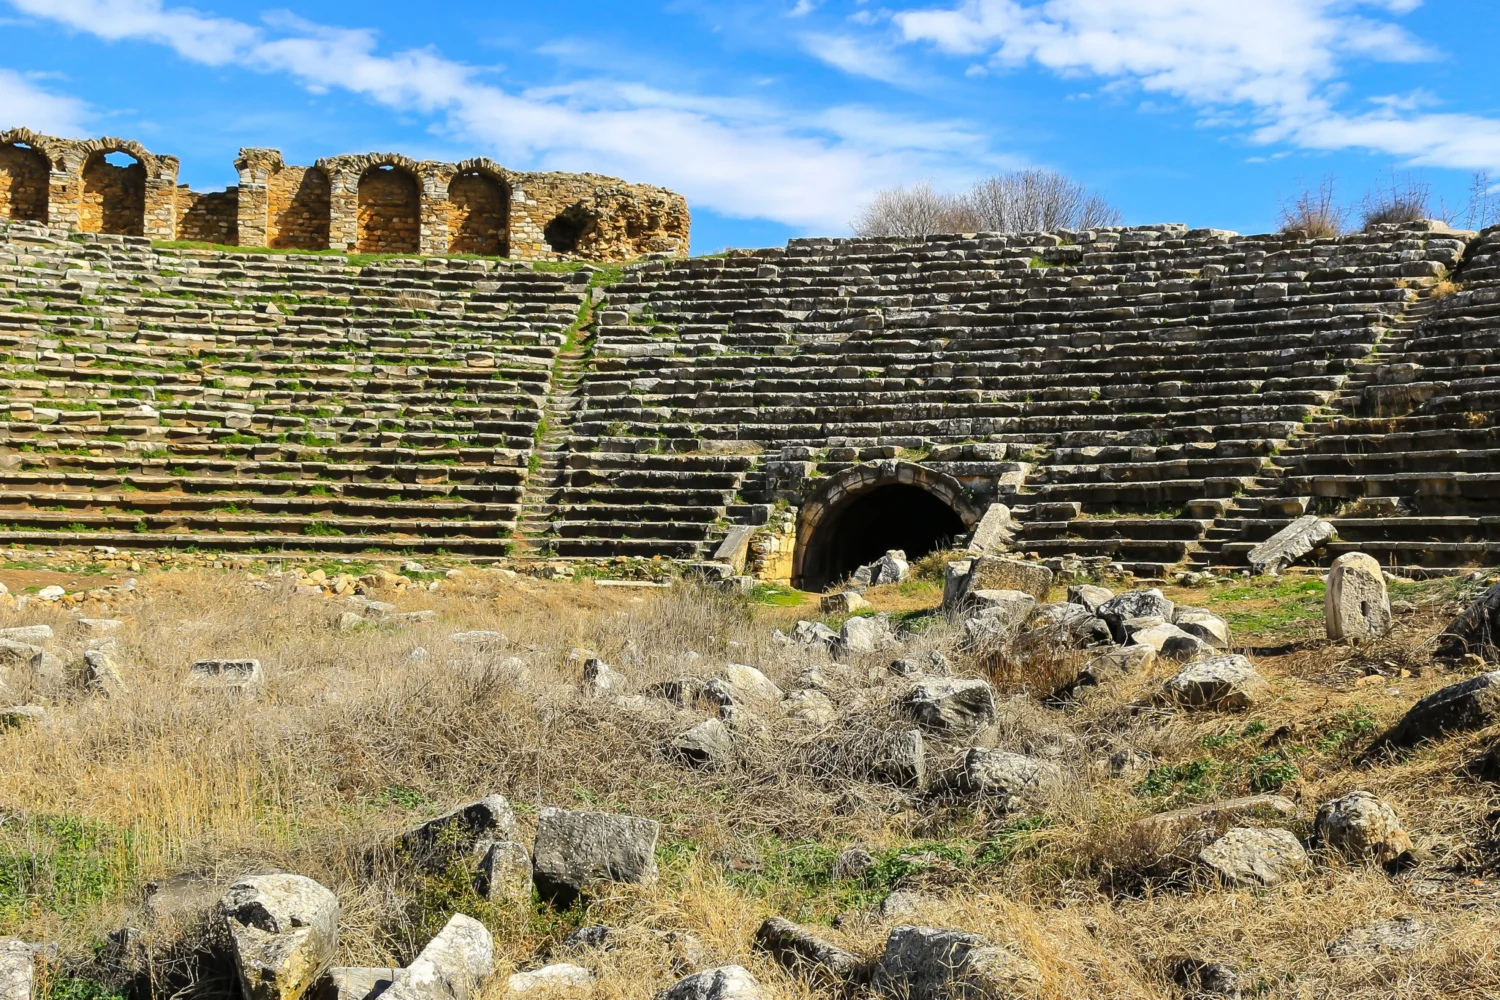
<svg viewBox="0 0 1500 1000">
<path fill-rule="evenodd" d="M 590 280 L 0 228 L 0 538 L 501 555 Z"/>
</svg>

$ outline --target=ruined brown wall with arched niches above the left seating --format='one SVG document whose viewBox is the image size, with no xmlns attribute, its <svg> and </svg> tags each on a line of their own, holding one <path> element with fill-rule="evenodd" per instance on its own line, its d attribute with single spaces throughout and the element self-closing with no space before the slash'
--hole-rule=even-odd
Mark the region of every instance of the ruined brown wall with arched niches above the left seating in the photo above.
<svg viewBox="0 0 1500 1000">
<path fill-rule="evenodd" d="M 78 232 L 354 253 L 626 261 L 686 256 L 687 202 L 598 174 L 518 172 L 394 153 L 291 166 L 240 150 L 240 183 L 200 193 L 129 139 L 0 132 L 0 219 Z"/>
</svg>

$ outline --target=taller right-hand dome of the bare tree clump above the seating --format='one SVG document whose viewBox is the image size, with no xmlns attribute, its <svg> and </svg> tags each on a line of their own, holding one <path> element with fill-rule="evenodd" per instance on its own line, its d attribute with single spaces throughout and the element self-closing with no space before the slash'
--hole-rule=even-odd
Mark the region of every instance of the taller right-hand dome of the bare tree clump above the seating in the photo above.
<svg viewBox="0 0 1500 1000">
<path fill-rule="evenodd" d="M 1023 169 L 981 180 L 960 196 L 976 229 L 1044 232 L 1120 225 L 1102 195 L 1050 169 Z"/>
</svg>

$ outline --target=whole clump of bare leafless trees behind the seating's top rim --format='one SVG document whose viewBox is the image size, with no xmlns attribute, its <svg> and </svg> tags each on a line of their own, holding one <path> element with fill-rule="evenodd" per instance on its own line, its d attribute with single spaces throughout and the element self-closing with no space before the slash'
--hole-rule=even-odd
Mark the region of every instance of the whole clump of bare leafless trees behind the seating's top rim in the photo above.
<svg viewBox="0 0 1500 1000">
<path fill-rule="evenodd" d="M 1041 232 L 1120 225 L 1120 213 L 1101 195 L 1056 171 L 1016 171 L 981 180 L 962 195 L 930 184 L 876 193 L 854 220 L 858 235 L 932 232 Z"/>
</svg>

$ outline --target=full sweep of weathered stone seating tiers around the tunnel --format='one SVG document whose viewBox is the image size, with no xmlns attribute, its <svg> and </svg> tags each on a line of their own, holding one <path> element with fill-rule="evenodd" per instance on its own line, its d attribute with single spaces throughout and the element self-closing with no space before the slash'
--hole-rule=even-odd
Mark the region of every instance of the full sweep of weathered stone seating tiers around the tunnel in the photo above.
<svg viewBox="0 0 1500 1000">
<path fill-rule="evenodd" d="M 356 232 L 420 232 L 402 192 Z M 486 192 L 450 234 L 483 238 Z M 794 240 L 610 277 L 0 223 L 0 544 L 720 555 L 818 588 L 1004 501 L 1059 568 L 1246 567 L 1306 513 L 1322 562 L 1500 564 L 1500 228 Z"/>
</svg>

